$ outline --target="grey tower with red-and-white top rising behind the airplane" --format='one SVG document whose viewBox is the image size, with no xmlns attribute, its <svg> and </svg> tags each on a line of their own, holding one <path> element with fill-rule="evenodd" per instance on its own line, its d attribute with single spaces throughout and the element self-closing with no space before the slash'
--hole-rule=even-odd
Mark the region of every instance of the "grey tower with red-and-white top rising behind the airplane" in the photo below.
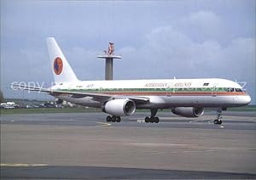
<svg viewBox="0 0 256 180">
<path fill-rule="evenodd" d="M 104 51 L 103 55 L 97 55 L 97 58 L 105 59 L 105 80 L 113 80 L 113 59 L 121 59 L 119 55 L 114 55 L 113 42 L 109 42 L 108 52 Z"/>
</svg>

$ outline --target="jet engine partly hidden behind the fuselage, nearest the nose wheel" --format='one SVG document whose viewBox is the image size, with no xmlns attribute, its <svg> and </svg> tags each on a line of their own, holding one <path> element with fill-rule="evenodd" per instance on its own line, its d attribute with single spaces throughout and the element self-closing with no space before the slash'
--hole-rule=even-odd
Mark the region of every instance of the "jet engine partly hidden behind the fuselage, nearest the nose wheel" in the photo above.
<svg viewBox="0 0 256 180">
<path fill-rule="evenodd" d="M 205 112 L 204 108 L 195 107 L 178 107 L 172 109 L 172 113 L 175 115 L 181 115 L 183 117 L 199 117 Z"/>
</svg>

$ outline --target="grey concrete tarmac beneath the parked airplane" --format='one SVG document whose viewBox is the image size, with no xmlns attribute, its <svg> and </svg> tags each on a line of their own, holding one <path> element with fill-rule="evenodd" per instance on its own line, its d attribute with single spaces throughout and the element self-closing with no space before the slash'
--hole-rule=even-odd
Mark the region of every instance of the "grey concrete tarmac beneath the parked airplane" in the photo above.
<svg viewBox="0 0 256 180">
<path fill-rule="evenodd" d="M 1 115 L 1 179 L 256 178 L 256 112 Z"/>
</svg>

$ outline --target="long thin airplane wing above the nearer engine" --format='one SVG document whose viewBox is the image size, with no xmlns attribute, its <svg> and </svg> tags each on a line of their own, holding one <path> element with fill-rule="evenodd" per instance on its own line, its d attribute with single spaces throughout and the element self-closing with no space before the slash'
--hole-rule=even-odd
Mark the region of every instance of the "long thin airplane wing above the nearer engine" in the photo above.
<svg viewBox="0 0 256 180">
<path fill-rule="evenodd" d="M 15 84 L 15 83 L 11 84 L 11 88 L 21 89 L 26 91 L 44 92 L 44 93 L 49 93 L 52 96 L 69 95 L 71 98 L 91 97 L 92 100 L 95 100 L 101 103 L 107 102 L 108 100 L 111 100 L 113 98 L 129 98 L 133 100 L 136 104 L 148 103 L 150 100 L 150 98 L 141 97 L 141 96 L 131 97 L 131 96 L 123 96 L 123 95 L 110 95 L 110 94 L 104 94 L 104 93 L 70 92 L 70 91 L 61 91 L 61 90 L 42 88 L 42 87 L 30 87 L 26 85 Z"/>
</svg>

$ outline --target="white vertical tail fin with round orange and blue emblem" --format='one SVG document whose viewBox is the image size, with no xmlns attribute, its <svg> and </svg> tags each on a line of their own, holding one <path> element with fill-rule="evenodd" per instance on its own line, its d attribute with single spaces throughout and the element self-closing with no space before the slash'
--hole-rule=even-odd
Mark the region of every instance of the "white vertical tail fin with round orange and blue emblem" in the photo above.
<svg viewBox="0 0 256 180">
<path fill-rule="evenodd" d="M 55 38 L 48 37 L 46 42 L 55 83 L 79 81 L 64 54 L 61 52 L 61 48 L 58 46 L 57 42 L 55 42 Z"/>
</svg>

